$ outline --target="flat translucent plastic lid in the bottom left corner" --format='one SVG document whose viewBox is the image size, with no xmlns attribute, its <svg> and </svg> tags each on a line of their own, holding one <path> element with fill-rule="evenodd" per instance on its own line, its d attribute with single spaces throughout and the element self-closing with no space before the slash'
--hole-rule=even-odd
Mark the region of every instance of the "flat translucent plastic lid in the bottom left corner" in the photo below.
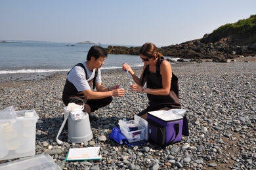
<svg viewBox="0 0 256 170">
<path fill-rule="evenodd" d="M 43 170 L 61 170 L 53 161 L 49 154 L 41 154 L 24 158 L 16 161 L 0 164 L 0 170 L 25 170 L 25 169 L 43 169 Z"/>
</svg>

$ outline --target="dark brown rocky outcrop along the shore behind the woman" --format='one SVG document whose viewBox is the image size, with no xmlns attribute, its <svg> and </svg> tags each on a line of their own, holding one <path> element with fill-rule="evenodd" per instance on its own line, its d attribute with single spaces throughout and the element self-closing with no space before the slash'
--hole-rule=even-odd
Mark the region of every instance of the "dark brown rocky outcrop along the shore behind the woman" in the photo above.
<svg viewBox="0 0 256 170">
<path fill-rule="evenodd" d="M 256 56 L 256 44 L 249 46 L 238 46 L 231 44 L 230 38 L 226 37 L 216 42 L 205 43 L 203 39 L 183 42 L 170 46 L 158 48 L 163 56 L 186 59 L 212 59 L 215 62 L 226 62 L 227 59 L 239 58 L 241 56 Z M 139 55 L 140 47 L 108 46 L 108 54 L 130 54 Z M 201 61 L 201 60 L 200 60 Z"/>
</svg>

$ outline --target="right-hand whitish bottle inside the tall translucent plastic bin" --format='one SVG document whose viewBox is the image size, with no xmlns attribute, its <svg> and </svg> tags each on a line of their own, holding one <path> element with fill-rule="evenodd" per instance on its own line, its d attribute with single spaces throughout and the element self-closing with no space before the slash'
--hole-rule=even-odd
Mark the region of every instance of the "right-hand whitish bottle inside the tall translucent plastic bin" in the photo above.
<svg viewBox="0 0 256 170">
<path fill-rule="evenodd" d="M 24 115 L 24 137 L 33 137 L 35 135 L 35 123 L 30 118 L 33 118 L 33 112 L 25 112 Z"/>
</svg>

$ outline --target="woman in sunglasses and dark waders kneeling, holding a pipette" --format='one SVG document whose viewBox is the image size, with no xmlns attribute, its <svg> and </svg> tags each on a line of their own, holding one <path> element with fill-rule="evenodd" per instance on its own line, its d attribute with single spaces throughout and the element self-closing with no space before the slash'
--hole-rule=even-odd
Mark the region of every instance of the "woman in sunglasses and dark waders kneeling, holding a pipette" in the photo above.
<svg viewBox="0 0 256 170">
<path fill-rule="evenodd" d="M 146 119 L 150 111 L 181 109 L 178 78 L 172 73 L 171 64 L 163 59 L 158 48 L 150 42 L 142 45 L 139 54 L 144 62 L 140 78 L 127 63 L 123 63 L 123 71 L 128 71 L 136 82 L 130 86 L 131 90 L 147 93 L 149 100 L 148 107 L 138 116 Z"/>
</svg>

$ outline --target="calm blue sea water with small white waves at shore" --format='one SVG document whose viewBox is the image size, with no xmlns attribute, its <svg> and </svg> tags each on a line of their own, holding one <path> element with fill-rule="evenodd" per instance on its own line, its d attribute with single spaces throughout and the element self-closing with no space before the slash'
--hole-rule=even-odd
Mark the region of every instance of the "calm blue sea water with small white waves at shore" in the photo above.
<svg viewBox="0 0 256 170">
<path fill-rule="evenodd" d="M 0 43 L 0 74 L 45 73 L 69 71 L 86 60 L 87 52 L 94 44 L 68 44 L 58 42 Z M 108 44 L 101 44 L 108 47 Z M 108 54 L 101 69 L 121 68 L 122 63 L 142 67 L 139 56 Z"/>
</svg>

